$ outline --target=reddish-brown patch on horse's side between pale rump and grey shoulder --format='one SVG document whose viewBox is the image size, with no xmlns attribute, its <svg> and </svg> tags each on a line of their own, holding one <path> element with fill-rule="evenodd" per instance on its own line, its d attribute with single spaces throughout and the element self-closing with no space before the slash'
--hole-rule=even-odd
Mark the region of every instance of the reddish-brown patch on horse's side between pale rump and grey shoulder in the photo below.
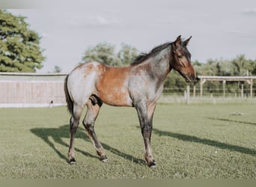
<svg viewBox="0 0 256 187">
<path fill-rule="evenodd" d="M 97 96 L 108 105 L 132 106 L 129 96 L 130 67 L 105 67 L 97 78 Z"/>
</svg>

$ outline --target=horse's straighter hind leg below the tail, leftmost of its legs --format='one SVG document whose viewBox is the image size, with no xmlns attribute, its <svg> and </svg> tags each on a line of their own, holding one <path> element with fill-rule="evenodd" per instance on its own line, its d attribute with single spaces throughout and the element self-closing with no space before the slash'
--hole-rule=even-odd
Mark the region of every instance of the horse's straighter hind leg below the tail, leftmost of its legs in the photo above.
<svg viewBox="0 0 256 187">
<path fill-rule="evenodd" d="M 74 140 L 75 140 L 76 130 L 79 126 L 79 120 L 82 114 L 82 110 L 83 110 L 83 107 L 74 106 L 73 114 L 72 114 L 72 117 L 70 118 L 70 147 L 67 153 L 70 164 L 76 163 Z"/>
</svg>

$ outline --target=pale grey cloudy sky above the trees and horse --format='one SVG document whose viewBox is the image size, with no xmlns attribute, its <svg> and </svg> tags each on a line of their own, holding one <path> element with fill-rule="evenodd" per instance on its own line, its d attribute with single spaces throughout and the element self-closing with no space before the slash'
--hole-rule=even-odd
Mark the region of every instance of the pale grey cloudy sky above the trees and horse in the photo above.
<svg viewBox="0 0 256 187">
<path fill-rule="evenodd" d="M 15 3 L 16 1 L 16 3 Z M 82 62 L 88 47 L 122 43 L 139 52 L 192 36 L 192 61 L 231 60 L 237 55 L 256 60 L 255 0 L 13 0 L 1 4 L 14 15 L 26 16 L 42 37 L 43 68 L 69 73 Z M 2 2 L 3 3 L 3 2 Z"/>
</svg>

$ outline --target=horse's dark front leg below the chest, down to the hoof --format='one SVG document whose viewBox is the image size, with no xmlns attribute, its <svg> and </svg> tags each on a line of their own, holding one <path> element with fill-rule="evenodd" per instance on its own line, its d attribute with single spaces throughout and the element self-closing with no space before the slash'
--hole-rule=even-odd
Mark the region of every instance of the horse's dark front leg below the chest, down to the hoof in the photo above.
<svg viewBox="0 0 256 187">
<path fill-rule="evenodd" d="M 141 104 L 136 107 L 138 112 L 138 119 L 141 125 L 141 134 L 144 140 L 144 159 L 150 168 L 156 167 L 156 161 L 153 159 L 151 150 L 151 132 L 153 127 L 153 112 L 156 108 L 156 103 L 150 105 Z"/>
</svg>

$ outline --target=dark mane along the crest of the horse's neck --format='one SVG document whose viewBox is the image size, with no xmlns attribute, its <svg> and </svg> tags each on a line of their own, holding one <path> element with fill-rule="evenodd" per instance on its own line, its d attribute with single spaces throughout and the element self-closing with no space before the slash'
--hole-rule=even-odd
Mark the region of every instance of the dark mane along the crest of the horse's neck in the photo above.
<svg viewBox="0 0 256 187">
<path fill-rule="evenodd" d="M 161 52 L 163 49 L 167 48 L 170 45 L 171 43 L 164 43 L 160 46 L 156 46 L 149 53 L 141 53 L 137 56 L 137 58 L 135 58 L 135 60 L 132 62 L 132 65 L 141 64 L 142 61 L 145 61 L 147 58 L 157 55 L 159 52 Z"/>
</svg>

